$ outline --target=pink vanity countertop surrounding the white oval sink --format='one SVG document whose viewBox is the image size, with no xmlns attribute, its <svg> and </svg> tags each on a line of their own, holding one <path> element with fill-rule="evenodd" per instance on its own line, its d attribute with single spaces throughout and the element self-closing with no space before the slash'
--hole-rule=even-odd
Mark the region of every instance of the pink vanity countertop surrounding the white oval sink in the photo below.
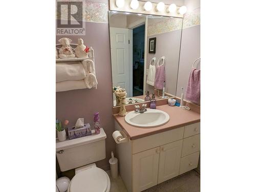
<svg viewBox="0 0 256 192">
<path fill-rule="evenodd" d="M 135 127 L 133 125 L 126 123 L 124 117 L 121 117 L 118 114 L 114 114 L 113 116 L 131 140 L 172 130 L 191 123 L 200 122 L 199 113 L 196 113 L 191 110 L 188 111 L 179 108 L 178 106 L 169 106 L 165 104 L 157 106 L 157 109 L 166 112 L 170 116 L 170 119 L 166 124 L 153 128 Z"/>
</svg>

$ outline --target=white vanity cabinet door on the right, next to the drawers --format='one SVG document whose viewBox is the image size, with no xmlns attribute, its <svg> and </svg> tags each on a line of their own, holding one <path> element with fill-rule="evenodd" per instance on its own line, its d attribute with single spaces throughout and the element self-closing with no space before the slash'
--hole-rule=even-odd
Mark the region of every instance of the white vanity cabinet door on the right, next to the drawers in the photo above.
<svg viewBox="0 0 256 192">
<path fill-rule="evenodd" d="M 179 175 L 182 140 L 160 146 L 158 183 Z"/>
</svg>

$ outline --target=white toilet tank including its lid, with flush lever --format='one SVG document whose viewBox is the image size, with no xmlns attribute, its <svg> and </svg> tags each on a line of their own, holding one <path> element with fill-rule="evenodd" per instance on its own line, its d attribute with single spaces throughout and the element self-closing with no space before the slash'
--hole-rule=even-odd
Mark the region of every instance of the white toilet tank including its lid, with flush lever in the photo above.
<svg viewBox="0 0 256 192">
<path fill-rule="evenodd" d="M 56 139 L 56 156 L 61 172 L 87 165 L 106 158 L 106 134 L 100 128 L 100 134 L 80 137 L 66 141 Z"/>
</svg>

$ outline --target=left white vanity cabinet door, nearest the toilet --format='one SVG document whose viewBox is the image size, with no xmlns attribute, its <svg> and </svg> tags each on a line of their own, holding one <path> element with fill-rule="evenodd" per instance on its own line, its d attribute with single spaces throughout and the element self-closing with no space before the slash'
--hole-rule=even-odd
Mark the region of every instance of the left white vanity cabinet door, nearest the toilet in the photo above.
<svg viewBox="0 0 256 192">
<path fill-rule="evenodd" d="M 157 185 L 159 147 L 133 155 L 133 191 Z"/>
</svg>

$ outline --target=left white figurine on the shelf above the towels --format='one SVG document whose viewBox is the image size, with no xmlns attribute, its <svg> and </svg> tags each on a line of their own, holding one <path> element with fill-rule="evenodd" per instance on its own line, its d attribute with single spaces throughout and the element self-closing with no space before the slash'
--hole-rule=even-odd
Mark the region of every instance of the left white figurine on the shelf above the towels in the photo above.
<svg viewBox="0 0 256 192">
<path fill-rule="evenodd" d="M 75 58 L 75 54 L 70 46 L 72 40 L 70 38 L 61 38 L 58 41 L 62 45 L 62 47 L 59 49 L 59 57 L 61 59 Z"/>
</svg>

